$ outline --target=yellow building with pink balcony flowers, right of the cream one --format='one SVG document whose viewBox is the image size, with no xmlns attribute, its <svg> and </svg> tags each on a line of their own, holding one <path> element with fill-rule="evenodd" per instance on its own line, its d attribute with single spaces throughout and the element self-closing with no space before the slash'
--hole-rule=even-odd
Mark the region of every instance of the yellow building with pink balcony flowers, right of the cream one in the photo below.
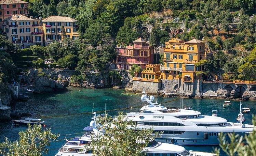
<svg viewBox="0 0 256 156">
<path fill-rule="evenodd" d="M 42 20 L 44 30 L 45 46 L 50 42 L 63 41 L 62 26 L 64 26 L 66 37 L 76 40 L 79 36 L 77 20 L 63 16 L 49 16 Z"/>
</svg>

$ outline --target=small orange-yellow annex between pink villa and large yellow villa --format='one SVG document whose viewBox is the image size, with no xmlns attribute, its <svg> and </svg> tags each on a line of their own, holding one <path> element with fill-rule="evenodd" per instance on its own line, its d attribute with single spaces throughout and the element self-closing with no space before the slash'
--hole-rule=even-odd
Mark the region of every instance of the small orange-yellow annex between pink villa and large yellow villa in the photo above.
<svg viewBox="0 0 256 156">
<path fill-rule="evenodd" d="M 153 81 L 153 82 L 160 82 L 160 65 L 159 64 L 147 64 L 145 66 L 145 70 L 142 71 L 142 78 L 134 77 L 133 80 L 140 80 L 140 81 Z"/>
</svg>

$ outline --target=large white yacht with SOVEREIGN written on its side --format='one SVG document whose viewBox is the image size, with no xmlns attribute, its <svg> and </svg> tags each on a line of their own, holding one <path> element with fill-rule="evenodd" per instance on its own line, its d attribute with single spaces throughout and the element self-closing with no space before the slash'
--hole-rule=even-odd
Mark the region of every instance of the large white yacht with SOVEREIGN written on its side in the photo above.
<svg viewBox="0 0 256 156">
<path fill-rule="evenodd" d="M 137 128 L 152 128 L 154 132 L 163 132 L 157 141 L 178 145 L 218 145 L 219 132 L 236 132 L 244 135 L 252 132 L 253 125 L 231 123 L 217 116 L 201 115 L 194 110 L 166 108 L 153 103 L 153 96 L 142 97 L 148 105 L 140 112 L 127 113 L 128 121 L 135 121 Z"/>
</svg>

